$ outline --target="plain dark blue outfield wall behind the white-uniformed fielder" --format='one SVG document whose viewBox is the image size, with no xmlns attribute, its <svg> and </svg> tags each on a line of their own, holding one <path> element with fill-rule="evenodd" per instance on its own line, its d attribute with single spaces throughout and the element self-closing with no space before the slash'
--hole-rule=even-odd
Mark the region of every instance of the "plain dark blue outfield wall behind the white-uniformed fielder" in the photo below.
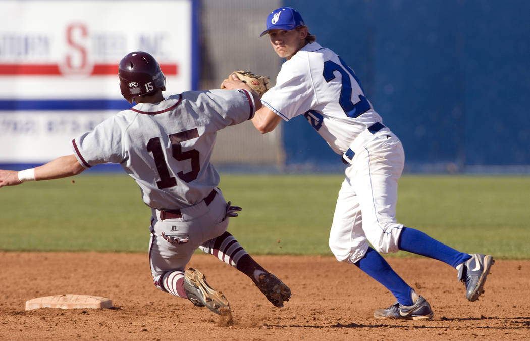
<svg viewBox="0 0 530 341">
<path fill-rule="evenodd" d="M 405 170 L 528 172 L 530 1 L 285 4 L 355 70 L 403 142 Z M 285 125 L 287 163 L 336 159 L 311 130 Z"/>
</svg>

